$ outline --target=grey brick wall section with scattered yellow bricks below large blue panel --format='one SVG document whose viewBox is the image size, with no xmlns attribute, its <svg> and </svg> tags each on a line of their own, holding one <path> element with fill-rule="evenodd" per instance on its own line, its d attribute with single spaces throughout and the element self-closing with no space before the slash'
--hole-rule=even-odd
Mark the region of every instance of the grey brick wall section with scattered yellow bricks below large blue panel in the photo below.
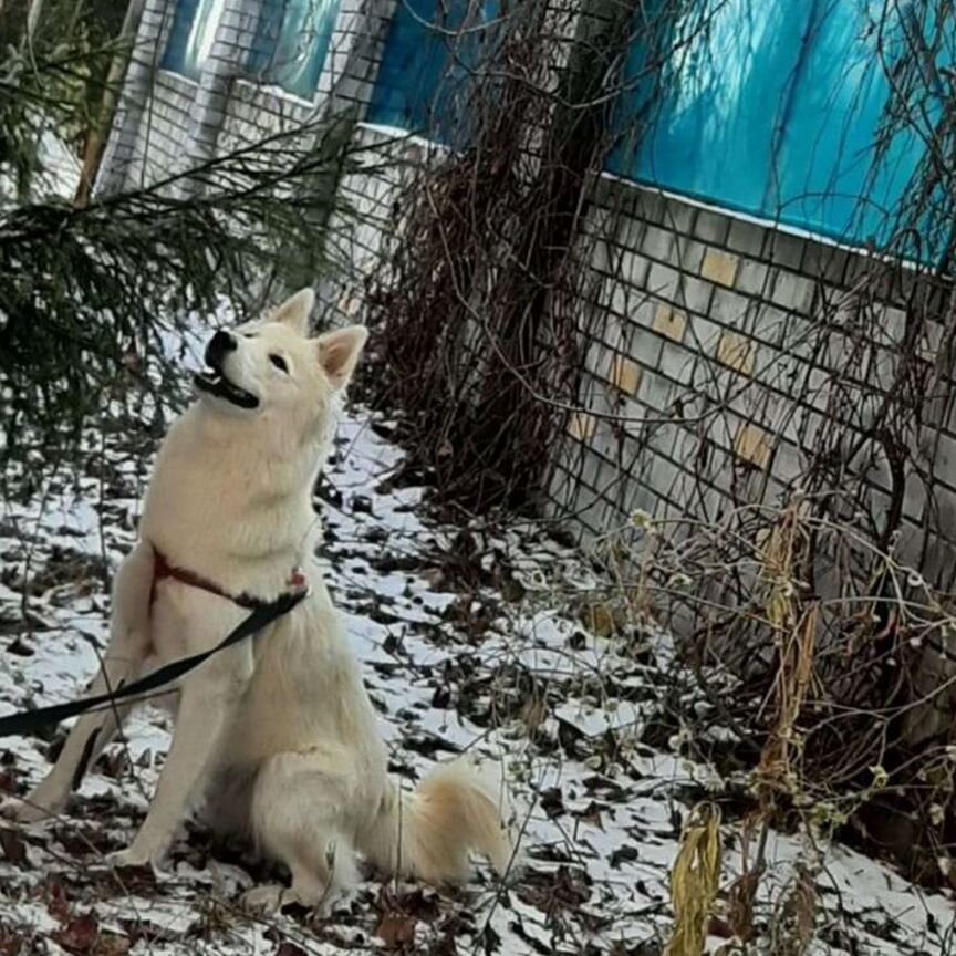
<svg viewBox="0 0 956 956">
<path fill-rule="evenodd" d="M 885 513 L 890 463 L 865 433 L 898 372 L 904 302 L 918 308 L 922 295 L 938 313 L 938 290 L 904 279 L 864 297 L 860 277 L 874 262 L 859 252 L 612 177 L 595 188 L 582 232 L 584 284 L 595 291 L 580 303 L 581 408 L 555 453 L 552 513 L 574 515 L 589 538 L 637 509 L 715 519 L 780 500 L 841 407 L 838 424 L 864 436 L 846 481 L 860 479 L 874 513 Z M 919 362 L 937 360 L 942 333 L 927 323 Z M 912 449 L 900 554 L 949 590 L 952 413 L 924 433 Z"/>
</svg>

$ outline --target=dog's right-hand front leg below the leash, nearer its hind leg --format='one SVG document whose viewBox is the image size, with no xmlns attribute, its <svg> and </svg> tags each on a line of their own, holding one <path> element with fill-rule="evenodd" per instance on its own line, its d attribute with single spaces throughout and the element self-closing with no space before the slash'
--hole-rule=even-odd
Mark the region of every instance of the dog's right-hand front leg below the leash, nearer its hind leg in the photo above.
<svg viewBox="0 0 956 956">
<path fill-rule="evenodd" d="M 229 654 L 242 655 L 246 648 Z M 204 668 L 205 671 L 205 668 Z M 173 746 L 166 757 L 149 812 L 127 850 L 113 854 L 119 866 L 159 866 L 177 827 L 202 796 L 215 769 L 215 754 L 228 728 L 243 685 L 221 667 L 212 674 L 201 671 L 183 686 Z"/>
</svg>

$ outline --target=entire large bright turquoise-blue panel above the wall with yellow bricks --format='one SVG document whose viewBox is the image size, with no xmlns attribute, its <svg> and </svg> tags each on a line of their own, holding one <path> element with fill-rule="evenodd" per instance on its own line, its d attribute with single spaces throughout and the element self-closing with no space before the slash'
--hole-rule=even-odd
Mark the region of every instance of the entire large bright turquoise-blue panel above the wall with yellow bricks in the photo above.
<svg viewBox="0 0 956 956">
<path fill-rule="evenodd" d="M 918 135 L 904 133 L 874 164 L 911 6 L 900 0 L 886 17 L 884 0 L 727 0 L 707 29 L 694 13 L 674 25 L 676 52 L 659 74 L 635 42 L 617 118 L 636 121 L 638 145 L 624 142 L 609 168 L 818 235 L 883 245 L 923 156 Z M 655 83 L 665 91 L 657 100 Z"/>
</svg>

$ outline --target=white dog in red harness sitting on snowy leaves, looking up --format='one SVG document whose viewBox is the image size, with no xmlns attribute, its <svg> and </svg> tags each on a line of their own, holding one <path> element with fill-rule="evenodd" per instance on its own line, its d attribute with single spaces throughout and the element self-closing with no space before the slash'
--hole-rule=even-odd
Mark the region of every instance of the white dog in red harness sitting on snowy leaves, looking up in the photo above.
<svg viewBox="0 0 956 956">
<path fill-rule="evenodd" d="M 466 876 L 469 850 L 499 872 L 511 856 L 495 788 L 463 761 L 414 794 L 386 775 L 374 709 L 313 557 L 312 488 L 366 332 L 306 337 L 312 304 L 303 290 L 209 343 L 199 398 L 159 449 L 139 541 L 116 575 L 105 673 L 91 687 L 115 689 L 215 646 L 249 613 L 233 599 L 272 601 L 304 573 L 311 593 L 288 615 L 180 680 L 156 794 L 115 858 L 159 864 L 205 804 L 217 830 L 250 836 L 289 867 L 290 889 L 248 895 L 261 908 L 328 907 L 355 880 L 356 850 L 429 882 Z M 21 819 L 66 807 L 127 709 L 77 721 Z"/>
</svg>

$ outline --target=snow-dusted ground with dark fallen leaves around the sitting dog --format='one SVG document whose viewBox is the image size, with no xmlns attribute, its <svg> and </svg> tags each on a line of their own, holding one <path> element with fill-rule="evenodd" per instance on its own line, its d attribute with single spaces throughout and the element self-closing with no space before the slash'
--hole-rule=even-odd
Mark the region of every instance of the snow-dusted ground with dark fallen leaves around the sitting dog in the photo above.
<svg viewBox="0 0 956 956">
<path fill-rule="evenodd" d="M 361 411 L 343 422 L 315 499 L 328 580 L 393 771 L 412 786 L 463 750 L 498 761 L 517 796 L 523 869 L 502 887 L 479 867 L 445 892 L 370 874 L 351 911 L 328 921 L 245 915 L 238 896 L 266 877 L 262 865 L 214 852 L 193 829 L 167 872 L 111 872 L 102 856 L 131 839 L 168 744 L 164 717 L 146 708 L 69 814 L 28 830 L 0 824 L 0 954 L 662 952 L 682 821 L 723 786 L 710 768 L 643 742 L 666 635 L 583 630 L 574 606 L 594 573 L 533 524 L 491 532 L 430 520 L 424 489 L 396 480 L 403 454 L 391 435 Z M 104 646 L 105 580 L 133 541 L 148 455 L 114 434 L 104 457 L 100 440 L 91 432 L 79 474 L 56 469 L 0 510 L 0 713 L 77 696 Z M 25 790 L 52 749 L 55 740 L 0 740 L 0 789 Z M 740 871 L 738 831 L 725 814 L 725 890 Z M 954 952 L 948 898 L 844 848 L 784 834 L 768 841 L 750 952 L 782 952 L 767 942 L 772 913 L 814 850 L 824 863 L 806 952 Z M 727 947 L 726 936 L 715 921 L 708 948 Z"/>
</svg>

